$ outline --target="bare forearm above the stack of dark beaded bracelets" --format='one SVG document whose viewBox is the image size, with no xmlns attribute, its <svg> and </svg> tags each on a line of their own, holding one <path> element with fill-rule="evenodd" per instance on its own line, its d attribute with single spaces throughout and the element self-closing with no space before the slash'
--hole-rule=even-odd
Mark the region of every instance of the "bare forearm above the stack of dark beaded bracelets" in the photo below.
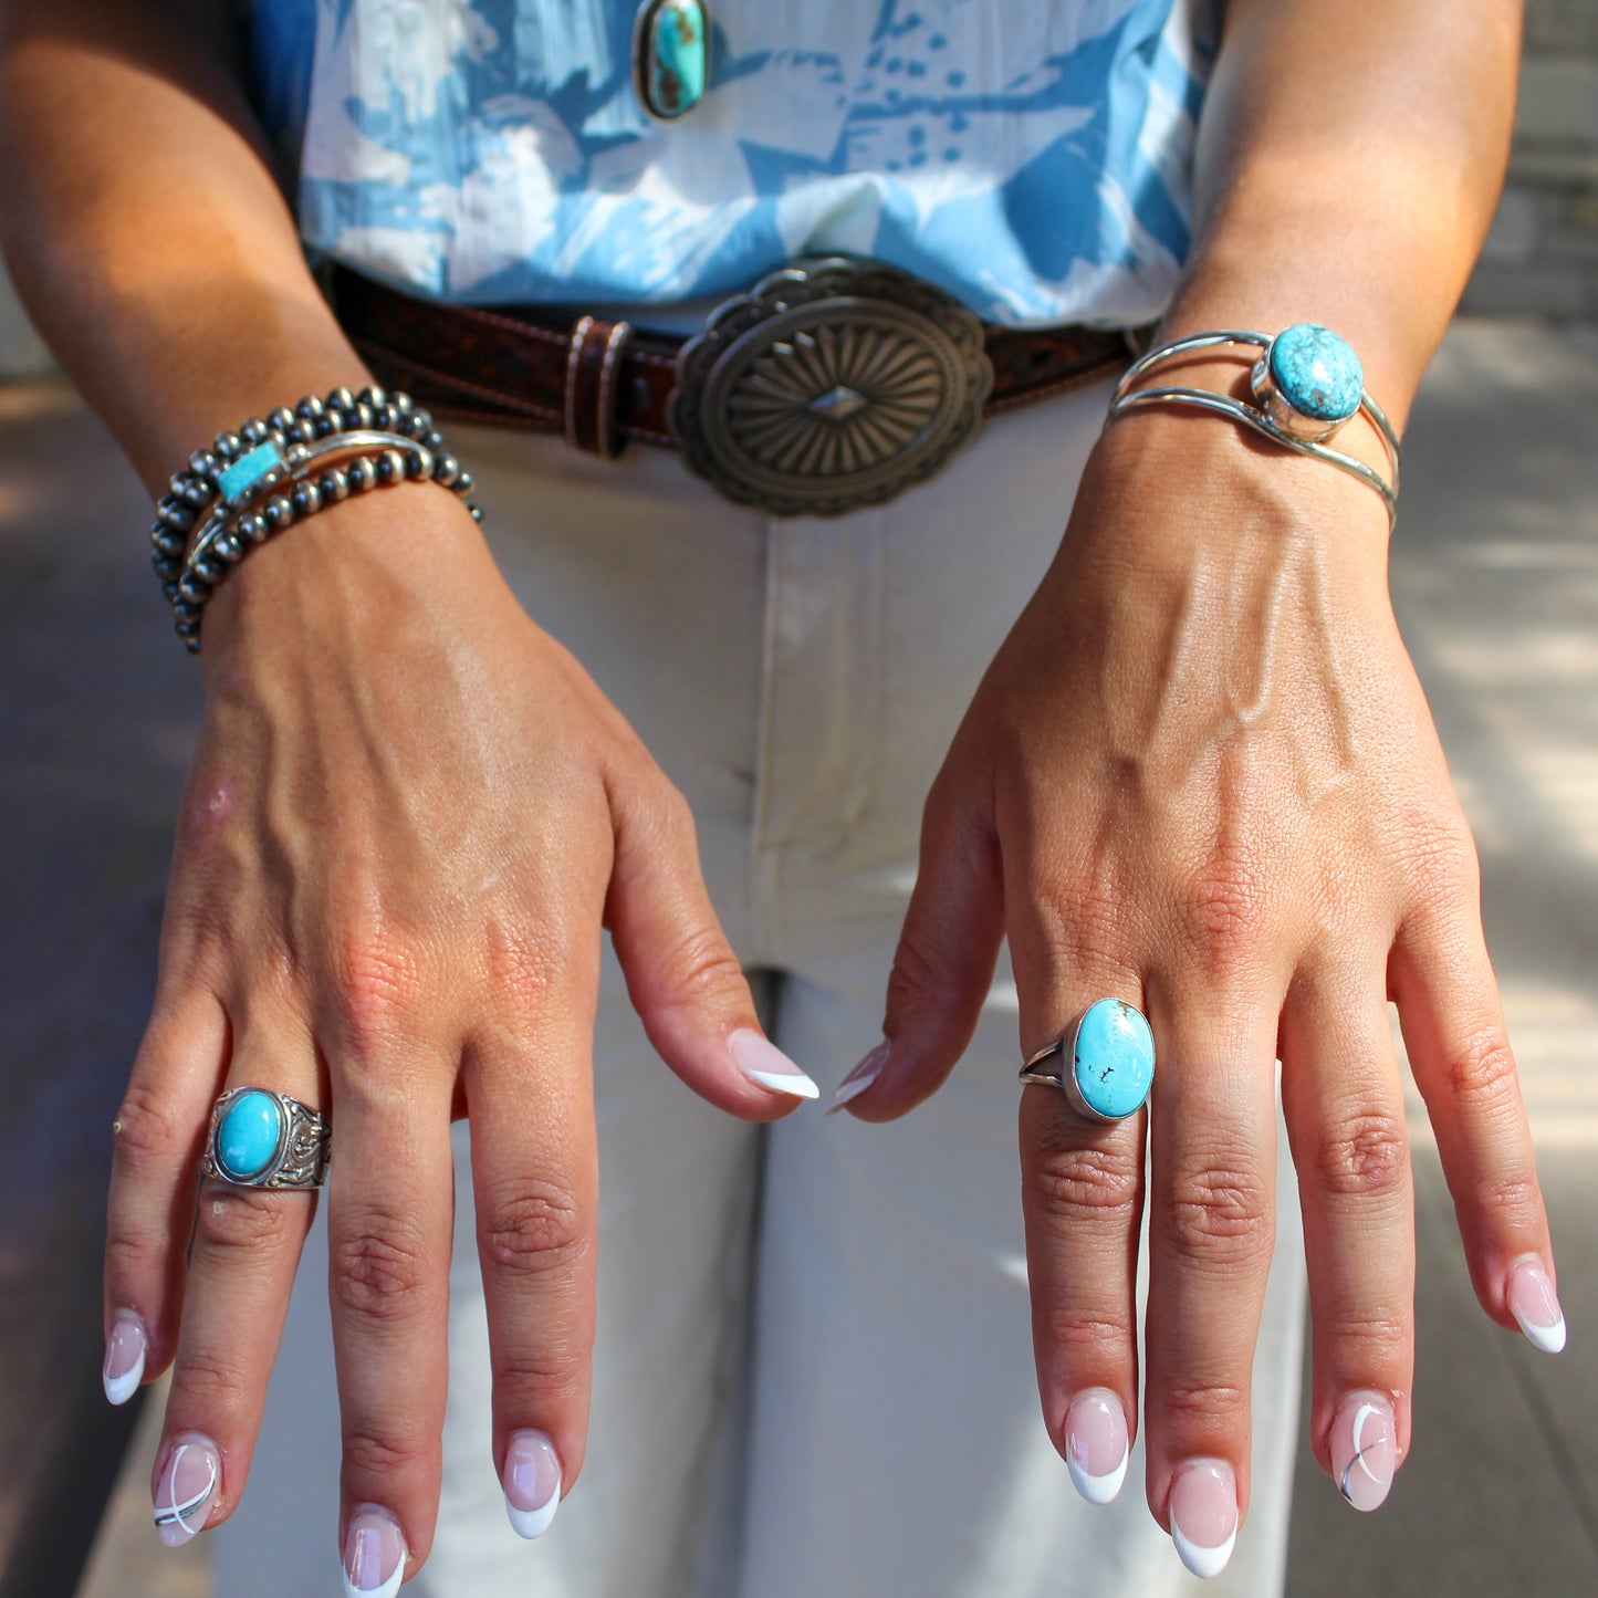
<svg viewBox="0 0 1598 1598">
<path fill-rule="evenodd" d="M 229 16 L 155 0 L 0 8 L 0 243 L 152 489 L 244 415 L 364 377 L 307 270 Z"/>
</svg>

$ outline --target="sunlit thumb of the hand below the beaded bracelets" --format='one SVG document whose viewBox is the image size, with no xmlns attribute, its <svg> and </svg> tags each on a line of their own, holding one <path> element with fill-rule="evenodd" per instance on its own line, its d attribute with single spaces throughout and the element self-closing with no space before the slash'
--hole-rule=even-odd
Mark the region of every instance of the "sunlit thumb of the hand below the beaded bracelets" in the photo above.
<svg viewBox="0 0 1598 1598">
<path fill-rule="evenodd" d="M 610 781 L 615 858 L 604 922 L 662 1059 L 702 1098 L 777 1120 L 820 1090 L 772 1043 L 711 908 L 694 813 L 658 772 Z"/>
</svg>

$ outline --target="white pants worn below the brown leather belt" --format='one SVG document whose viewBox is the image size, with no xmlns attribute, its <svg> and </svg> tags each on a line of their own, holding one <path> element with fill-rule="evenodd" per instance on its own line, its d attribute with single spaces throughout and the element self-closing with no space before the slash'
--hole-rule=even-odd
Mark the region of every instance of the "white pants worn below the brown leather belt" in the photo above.
<svg viewBox="0 0 1598 1598">
<path fill-rule="evenodd" d="M 1042 577 L 1104 412 L 1095 384 L 1005 415 L 880 510 L 767 519 L 633 446 L 455 428 L 486 527 L 694 805 L 732 946 L 780 973 L 775 1040 L 823 1088 L 880 1036 L 920 805 Z M 465 1128 L 436 1598 L 1275 1598 L 1302 1250 L 1291 1162 L 1254 1368 L 1253 1505 L 1198 1584 L 1143 1499 L 1080 1502 L 1032 1376 L 1008 962 L 949 1083 L 869 1127 L 710 1109 L 654 1056 L 606 952 L 594 1050 L 599 1333 L 583 1475 L 550 1532 L 505 1520 Z M 324 1230 L 299 1277 L 217 1593 L 339 1590 Z M 323 1576 L 326 1572 L 326 1576 Z M 318 1585 L 320 1584 L 320 1585 Z"/>
</svg>

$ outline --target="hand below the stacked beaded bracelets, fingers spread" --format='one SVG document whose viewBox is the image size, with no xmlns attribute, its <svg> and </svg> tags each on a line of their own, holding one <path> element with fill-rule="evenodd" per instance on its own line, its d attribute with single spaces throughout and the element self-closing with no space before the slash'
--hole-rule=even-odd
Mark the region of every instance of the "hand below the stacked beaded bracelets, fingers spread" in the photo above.
<svg viewBox="0 0 1598 1598">
<path fill-rule="evenodd" d="M 415 1572 L 438 1507 L 454 1115 L 473 1130 L 495 1469 L 532 1512 L 582 1465 L 601 927 L 689 1087 L 746 1120 L 815 1088 L 761 1036 L 686 801 L 454 495 L 377 491 L 252 553 L 206 609 L 201 663 L 155 1008 L 117 1120 L 107 1369 L 136 1363 L 141 1325 L 144 1377 L 174 1363 L 158 1520 L 214 1489 L 168 1513 L 166 1540 L 224 1520 L 315 1198 L 197 1192 L 211 1106 L 256 1085 L 328 1115 L 339 1531 L 371 1590 L 396 1560 Z"/>
</svg>

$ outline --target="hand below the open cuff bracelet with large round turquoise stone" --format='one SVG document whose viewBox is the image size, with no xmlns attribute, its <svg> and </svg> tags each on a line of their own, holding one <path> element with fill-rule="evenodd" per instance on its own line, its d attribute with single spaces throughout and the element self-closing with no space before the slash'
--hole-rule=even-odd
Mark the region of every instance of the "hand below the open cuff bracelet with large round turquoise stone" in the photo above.
<svg viewBox="0 0 1598 1598">
<path fill-rule="evenodd" d="M 1481 1306 L 1563 1339 L 1475 850 L 1368 489 L 1208 420 L 1146 414 L 1106 435 L 927 801 L 887 1056 L 857 1115 L 901 1115 L 943 1082 L 1002 933 L 1023 1056 L 1106 996 L 1154 1028 L 1147 1119 L 1090 1125 L 1056 1090 L 1021 1090 L 1023 1206 L 1043 1416 L 1088 1478 L 1136 1427 L 1151 1208 L 1147 1499 L 1195 1569 L 1224 1563 L 1248 1502 L 1277 1058 L 1314 1448 L 1358 1507 L 1385 1496 L 1409 1438 L 1413 1197 L 1389 997 Z"/>
</svg>

